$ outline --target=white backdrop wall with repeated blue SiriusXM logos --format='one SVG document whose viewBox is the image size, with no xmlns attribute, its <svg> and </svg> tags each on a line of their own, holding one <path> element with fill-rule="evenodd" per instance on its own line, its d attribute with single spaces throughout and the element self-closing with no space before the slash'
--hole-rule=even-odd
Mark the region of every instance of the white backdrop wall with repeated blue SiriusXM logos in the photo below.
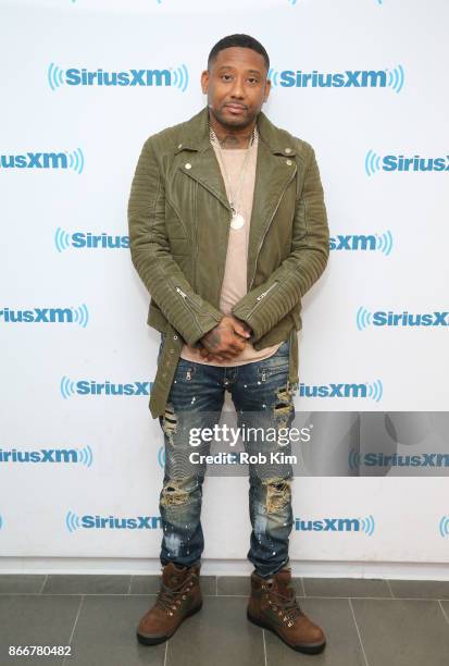
<svg viewBox="0 0 449 666">
<path fill-rule="evenodd" d="M 264 111 L 313 145 L 325 188 L 332 252 L 303 303 L 297 408 L 342 419 L 447 409 L 445 0 L 0 8 L 4 566 L 18 557 L 158 562 L 162 433 L 148 393 L 159 336 L 145 323 L 149 296 L 130 262 L 126 206 L 145 139 L 204 104 L 200 73 L 225 35 L 248 33 L 267 49 L 274 85 Z M 136 85 L 99 85 L 100 70 Z M 401 317 L 385 325 L 383 312 Z M 411 326 L 403 312 L 431 317 Z M 99 394 L 101 384 L 127 384 L 130 395 Z M 333 384 L 342 396 L 314 396 Z M 326 469 L 295 483 L 294 560 L 448 562 L 445 474 Z M 205 562 L 238 570 L 250 529 L 241 506 L 246 479 L 207 480 Z M 129 521 L 99 527 L 109 517 Z M 359 529 L 301 529 L 325 518 L 357 518 Z"/>
</svg>

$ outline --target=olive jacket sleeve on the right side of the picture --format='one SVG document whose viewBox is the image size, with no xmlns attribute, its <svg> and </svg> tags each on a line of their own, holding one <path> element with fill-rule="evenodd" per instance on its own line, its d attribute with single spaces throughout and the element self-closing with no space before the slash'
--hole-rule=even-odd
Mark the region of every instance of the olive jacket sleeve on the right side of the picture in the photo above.
<svg viewBox="0 0 449 666">
<path fill-rule="evenodd" d="M 329 230 L 323 187 L 313 148 L 309 148 L 302 192 L 297 198 L 290 255 L 270 279 L 233 308 L 253 332 L 251 343 L 271 331 L 317 281 L 329 255 Z"/>
</svg>

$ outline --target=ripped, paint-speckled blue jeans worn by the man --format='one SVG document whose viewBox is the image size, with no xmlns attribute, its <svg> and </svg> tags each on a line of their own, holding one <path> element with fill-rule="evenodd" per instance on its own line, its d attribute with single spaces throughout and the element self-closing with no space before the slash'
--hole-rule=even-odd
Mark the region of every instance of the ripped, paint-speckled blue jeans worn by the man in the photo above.
<svg viewBox="0 0 449 666">
<path fill-rule="evenodd" d="M 211 443 L 194 447 L 191 429 L 213 429 L 219 423 L 225 391 L 230 393 L 237 424 L 257 429 L 244 440 L 245 451 L 258 456 L 249 462 L 249 513 L 252 526 L 248 559 L 269 578 L 288 564 L 288 539 L 292 527 L 289 464 L 279 464 L 272 452 L 290 454 L 290 443 L 263 437 L 263 433 L 289 428 L 295 418 L 294 390 L 288 382 L 289 342 L 273 356 L 244 366 L 220 368 L 179 359 L 165 414 L 165 467 L 160 494 L 163 538 L 161 563 L 187 567 L 199 564 L 204 546 L 201 528 L 203 465 L 191 464 L 190 454 L 210 454 Z M 262 429 L 262 430 L 260 430 Z M 203 431 L 201 430 L 201 433 Z M 285 432 L 285 431 L 284 431 Z M 259 436 L 255 436 L 259 434 Z M 270 440 L 270 441 L 267 441 Z M 213 452 L 212 452 L 213 453 Z M 260 461 L 259 455 L 262 456 Z M 232 492 L 229 479 L 229 492 Z"/>
</svg>

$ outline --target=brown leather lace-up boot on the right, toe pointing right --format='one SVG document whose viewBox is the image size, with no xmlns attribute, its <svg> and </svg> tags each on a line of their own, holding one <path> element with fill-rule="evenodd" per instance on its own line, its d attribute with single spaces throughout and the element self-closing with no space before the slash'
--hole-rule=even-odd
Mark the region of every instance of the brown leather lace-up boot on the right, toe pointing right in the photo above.
<svg viewBox="0 0 449 666">
<path fill-rule="evenodd" d="M 248 619 L 270 629 L 297 652 L 317 654 L 324 650 L 326 638 L 298 606 L 290 581 L 289 569 L 282 569 L 269 579 L 254 571 L 251 575 Z"/>
</svg>

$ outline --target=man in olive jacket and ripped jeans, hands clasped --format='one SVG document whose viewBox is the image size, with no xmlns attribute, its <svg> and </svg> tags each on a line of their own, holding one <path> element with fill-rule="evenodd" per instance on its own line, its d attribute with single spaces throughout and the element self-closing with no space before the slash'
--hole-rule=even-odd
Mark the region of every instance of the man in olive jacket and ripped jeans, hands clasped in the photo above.
<svg viewBox="0 0 449 666">
<path fill-rule="evenodd" d="M 137 630 L 144 644 L 165 641 L 202 604 L 205 470 L 189 461 L 189 432 L 217 423 L 225 391 L 240 424 L 279 429 L 295 416 L 301 297 L 324 271 L 329 236 L 312 147 L 261 112 L 269 67 L 252 37 L 220 40 L 201 75 L 208 107 L 151 136 L 133 181 L 132 257 L 151 294 L 148 323 L 162 333 L 150 410 L 165 442 L 162 584 Z M 249 471 L 248 619 L 294 650 L 319 653 L 324 633 L 290 583 L 291 466 Z"/>
</svg>

